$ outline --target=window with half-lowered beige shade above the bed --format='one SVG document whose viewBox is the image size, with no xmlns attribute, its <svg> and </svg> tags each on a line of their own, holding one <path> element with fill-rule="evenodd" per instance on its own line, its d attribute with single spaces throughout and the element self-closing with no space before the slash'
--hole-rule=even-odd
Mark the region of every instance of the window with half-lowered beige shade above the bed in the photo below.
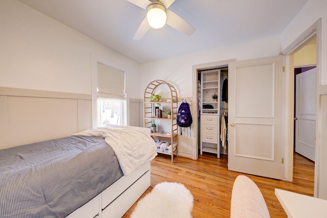
<svg viewBox="0 0 327 218">
<path fill-rule="evenodd" d="M 125 72 L 97 63 L 97 126 L 126 125 Z"/>
</svg>

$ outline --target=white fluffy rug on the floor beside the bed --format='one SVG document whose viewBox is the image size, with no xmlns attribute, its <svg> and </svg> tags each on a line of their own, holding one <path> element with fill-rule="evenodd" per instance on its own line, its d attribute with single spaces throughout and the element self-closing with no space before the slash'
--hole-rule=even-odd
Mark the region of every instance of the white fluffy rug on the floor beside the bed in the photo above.
<svg viewBox="0 0 327 218">
<path fill-rule="evenodd" d="M 162 182 L 139 200 L 131 218 L 192 217 L 193 195 L 183 184 Z"/>
</svg>

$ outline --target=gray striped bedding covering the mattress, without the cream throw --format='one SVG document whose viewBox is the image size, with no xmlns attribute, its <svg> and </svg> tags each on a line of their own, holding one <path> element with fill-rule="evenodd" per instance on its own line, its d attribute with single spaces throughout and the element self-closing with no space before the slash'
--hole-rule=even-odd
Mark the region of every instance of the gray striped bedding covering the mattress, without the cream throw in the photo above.
<svg viewBox="0 0 327 218">
<path fill-rule="evenodd" d="M 65 217 L 122 176 L 103 137 L 0 150 L 0 217 Z"/>
</svg>

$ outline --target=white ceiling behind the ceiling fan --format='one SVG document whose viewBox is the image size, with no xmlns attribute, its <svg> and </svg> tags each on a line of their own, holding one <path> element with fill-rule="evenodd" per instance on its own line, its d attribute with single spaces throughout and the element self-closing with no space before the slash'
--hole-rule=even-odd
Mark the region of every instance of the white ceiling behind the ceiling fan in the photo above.
<svg viewBox="0 0 327 218">
<path fill-rule="evenodd" d="M 138 63 L 279 35 L 308 2 L 176 0 L 169 9 L 195 28 L 191 36 L 165 25 L 134 40 L 146 10 L 127 0 L 19 1 Z"/>
</svg>

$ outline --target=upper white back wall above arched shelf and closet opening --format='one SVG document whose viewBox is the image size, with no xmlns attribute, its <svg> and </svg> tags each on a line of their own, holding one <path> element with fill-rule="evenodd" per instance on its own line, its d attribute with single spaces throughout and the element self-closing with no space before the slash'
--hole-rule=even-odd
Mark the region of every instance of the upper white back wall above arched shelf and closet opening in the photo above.
<svg viewBox="0 0 327 218">
<path fill-rule="evenodd" d="M 192 66 L 227 59 L 246 60 L 278 55 L 279 37 L 270 37 L 141 64 L 141 88 L 161 79 L 173 84 L 178 96 L 192 96 Z M 142 92 L 141 92 L 142 93 Z M 142 93 L 143 94 L 143 93 Z M 143 96 L 140 96 L 143 98 Z"/>
</svg>

